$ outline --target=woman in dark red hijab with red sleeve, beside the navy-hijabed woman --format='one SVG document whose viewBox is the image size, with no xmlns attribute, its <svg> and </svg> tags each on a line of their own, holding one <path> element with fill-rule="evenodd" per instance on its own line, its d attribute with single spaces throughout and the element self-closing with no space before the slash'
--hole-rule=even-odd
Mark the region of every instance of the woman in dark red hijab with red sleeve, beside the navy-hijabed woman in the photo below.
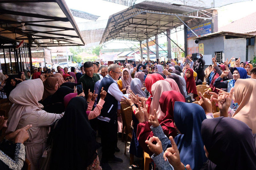
<svg viewBox="0 0 256 170">
<path fill-rule="evenodd" d="M 177 91 L 164 91 L 158 101 L 161 112 L 164 113 L 162 119 L 158 118 L 158 122 L 160 123 L 164 134 L 168 137 L 175 137 L 177 135 L 177 131 L 174 126 L 174 103 L 176 101 L 185 102 L 185 98 Z M 150 126 L 151 125 L 150 123 L 148 123 L 148 120 L 139 123 L 137 127 L 137 135 L 138 141 L 140 142 L 143 150 L 148 154 L 152 155 L 153 153 L 150 152 L 147 144 L 145 143 L 145 140 L 148 140 L 150 137 L 155 135 L 151 131 Z"/>
</svg>

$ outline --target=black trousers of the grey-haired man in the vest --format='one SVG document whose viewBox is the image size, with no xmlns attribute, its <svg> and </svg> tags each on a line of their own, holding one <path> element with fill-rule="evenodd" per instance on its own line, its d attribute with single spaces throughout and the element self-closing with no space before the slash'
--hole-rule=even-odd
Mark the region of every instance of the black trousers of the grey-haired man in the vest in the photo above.
<svg viewBox="0 0 256 170">
<path fill-rule="evenodd" d="M 101 162 L 106 163 L 109 158 L 114 157 L 117 143 L 117 119 L 112 123 L 99 121 L 99 130 L 101 131 L 102 144 Z"/>
</svg>

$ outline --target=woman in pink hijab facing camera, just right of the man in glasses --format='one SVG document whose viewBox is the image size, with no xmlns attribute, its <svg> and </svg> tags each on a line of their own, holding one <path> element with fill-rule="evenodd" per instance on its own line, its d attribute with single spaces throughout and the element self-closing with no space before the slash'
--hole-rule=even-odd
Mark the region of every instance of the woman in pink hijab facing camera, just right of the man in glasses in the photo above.
<svg viewBox="0 0 256 170">
<path fill-rule="evenodd" d="M 128 86 L 131 84 L 131 81 L 132 81 L 132 76 L 130 75 L 130 71 L 127 68 L 125 68 L 122 71 L 121 79 L 119 79 L 117 82 L 118 87 L 120 91 L 122 91 L 122 93 L 126 94 L 126 90 L 128 89 Z"/>
</svg>

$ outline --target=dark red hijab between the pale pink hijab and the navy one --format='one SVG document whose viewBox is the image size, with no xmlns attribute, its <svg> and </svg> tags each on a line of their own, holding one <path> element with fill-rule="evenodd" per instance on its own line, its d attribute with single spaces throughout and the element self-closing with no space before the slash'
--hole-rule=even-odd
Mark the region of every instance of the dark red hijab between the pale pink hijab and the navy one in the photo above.
<svg viewBox="0 0 256 170">
<path fill-rule="evenodd" d="M 163 128 L 164 134 L 168 137 L 177 135 L 173 116 L 174 103 L 176 101 L 186 102 L 184 96 L 175 90 L 164 91 L 159 100 L 160 108 L 165 113 L 164 118 L 159 120 L 159 123 Z"/>
</svg>

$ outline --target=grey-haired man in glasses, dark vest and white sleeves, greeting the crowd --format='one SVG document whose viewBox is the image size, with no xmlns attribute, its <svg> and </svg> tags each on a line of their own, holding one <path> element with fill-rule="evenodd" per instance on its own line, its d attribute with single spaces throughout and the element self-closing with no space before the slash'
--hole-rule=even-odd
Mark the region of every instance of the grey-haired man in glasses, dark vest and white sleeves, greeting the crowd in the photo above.
<svg viewBox="0 0 256 170">
<path fill-rule="evenodd" d="M 117 109 L 118 103 L 123 97 L 123 93 L 119 90 L 116 83 L 120 74 L 120 66 L 111 64 L 108 67 L 108 74 L 102 79 L 98 88 L 98 94 L 102 87 L 107 92 L 105 103 L 101 109 L 100 116 L 98 116 L 102 144 L 101 166 L 104 170 L 111 170 L 108 162 L 123 162 L 121 158 L 117 158 L 114 155 L 117 143 Z M 98 95 L 98 101 L 99 98 L 100 95 Z"/>
</svg>

